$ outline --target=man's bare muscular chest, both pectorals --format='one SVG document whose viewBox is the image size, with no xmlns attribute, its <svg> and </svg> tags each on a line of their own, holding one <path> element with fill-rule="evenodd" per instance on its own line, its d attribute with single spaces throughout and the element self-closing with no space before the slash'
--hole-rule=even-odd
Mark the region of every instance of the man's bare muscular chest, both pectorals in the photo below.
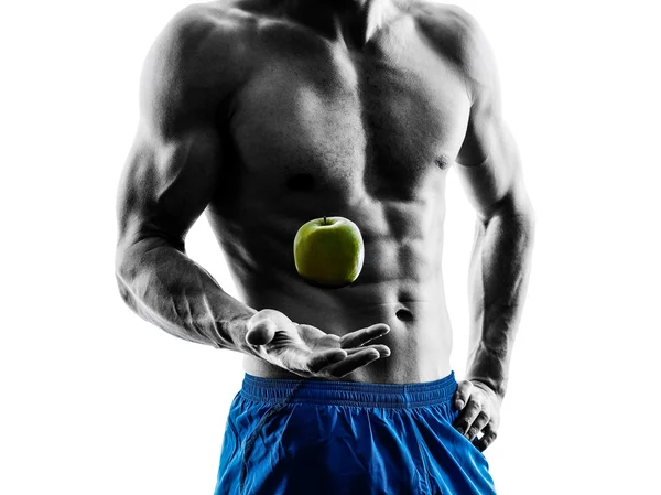
<svg viewBox="0 0 661 495">
<path fill-rule="evenodd" d="M 452 163 L 468 100 L 420 39 L 359 55 L 296 42 L 271 50 L 236 100 L 231 132 L 256 192 L 407 200 Z"/>
</svg>

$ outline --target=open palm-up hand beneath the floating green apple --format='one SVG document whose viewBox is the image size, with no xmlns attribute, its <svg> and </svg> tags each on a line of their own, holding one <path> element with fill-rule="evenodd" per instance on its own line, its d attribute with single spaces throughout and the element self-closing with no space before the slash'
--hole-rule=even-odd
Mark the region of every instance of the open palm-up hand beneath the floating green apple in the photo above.
<svg viewBox="0 0 661 495">
<path fill-rule="evenodd" d="M 246 342 L 257 356 L 305 378 L 338 379 L 390 355 L 386 345 L 365 346 L 390 332 L 384 323 L 340 337 L 294 323 L 280 311 L 261 310 L 247 325 Z"/>
</svg>

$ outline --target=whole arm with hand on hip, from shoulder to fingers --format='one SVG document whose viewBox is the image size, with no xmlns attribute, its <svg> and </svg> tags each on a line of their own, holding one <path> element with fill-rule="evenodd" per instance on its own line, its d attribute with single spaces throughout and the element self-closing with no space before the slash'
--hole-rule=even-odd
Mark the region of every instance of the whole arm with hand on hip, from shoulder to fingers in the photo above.
<svg viewBox="0 0 661 495">
<path fill-rule="evenodd" d="M 517 146 L 502 120 L 494 56 L 477 23 L 467 17 L 465 25 L 460 65 L 472 107 L 457 171 L 477 222 L 469 267 L 468 363 L 455 395 L 462 410 L 455 427 L 483 451 L 500 423 L 530 273 L 534 213 Z"/>
</svg>

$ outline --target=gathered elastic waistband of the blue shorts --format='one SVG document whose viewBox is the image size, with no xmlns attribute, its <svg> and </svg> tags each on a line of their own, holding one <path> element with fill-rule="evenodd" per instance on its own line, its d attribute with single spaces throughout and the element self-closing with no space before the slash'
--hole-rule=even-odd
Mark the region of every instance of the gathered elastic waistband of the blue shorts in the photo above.
<svg viewBox="0 0 661 495">
<path fill-rule="evenodd" d="M 454 372 L 438 380 L 403 385 L 260 378 L 246 374 L 240 394 L 247 399 L 269 403 L 404 409 L 449 401 L 456 389 Z"/>
</svg>

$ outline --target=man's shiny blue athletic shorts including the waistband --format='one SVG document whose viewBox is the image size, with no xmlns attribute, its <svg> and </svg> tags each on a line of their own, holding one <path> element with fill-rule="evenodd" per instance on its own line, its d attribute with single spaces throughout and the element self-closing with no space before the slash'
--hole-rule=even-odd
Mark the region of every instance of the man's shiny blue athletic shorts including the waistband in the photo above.
<svg viewBox="0 0 661 495">
<path fill-rule="evenodd" d="M 452 426 L 454 372 L 408 385 L 246 374 L 215 495 L 492 495 L 489 464 Z"/>
</svg>

